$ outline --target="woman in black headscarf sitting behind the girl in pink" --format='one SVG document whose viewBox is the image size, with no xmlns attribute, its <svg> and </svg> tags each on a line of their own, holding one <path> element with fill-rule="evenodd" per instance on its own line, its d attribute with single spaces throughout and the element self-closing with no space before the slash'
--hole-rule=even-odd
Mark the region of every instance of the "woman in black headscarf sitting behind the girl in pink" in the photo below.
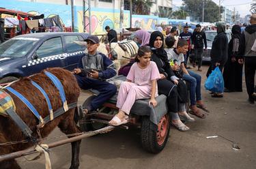
<svg viewBox="0 0 256 169">
<path fill-rule="evenodd" d="M 187 131 L 189 127 L 184 125 L 180 121 L 180 117 L 177 114 L 178 110 L 178 95 L 175 84 L 178 83 L 175 78 L 175 74 L 171 70 L 168 62 L 167 52 L 163 48 L 164 37 L 160 31 L 154 31 L 150 35 L 150 47 L 152 48 L 152 61 L 156 62 L 158 70 L 160 72 L 161 79 L 158 80 L 158 93 L 167 96 L 167 106 L 169 112 L 171 112 L 171 123 L 180 131 Z M 175 84 L 173 84 L 173 81 Z M 186 117 L 186 114 L 184 114 Z"/>
</svg>

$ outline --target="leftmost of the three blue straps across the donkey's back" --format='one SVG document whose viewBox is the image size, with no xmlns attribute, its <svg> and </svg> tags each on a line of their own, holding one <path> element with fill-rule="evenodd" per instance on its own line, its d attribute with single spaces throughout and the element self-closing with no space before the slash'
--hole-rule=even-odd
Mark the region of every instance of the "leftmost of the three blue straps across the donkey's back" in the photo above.
<svg viewBox="0 0 256 169">
<path fill-rule="evenodd" d="M 42 117 L 40 116 L 38 111 L 35 110 L 34 106 L 29 102 L 29 100 L 27 100 L 23 95 L 18 93 L 18 91 L 12 89 L 12 87 L 6 87 L 5 89 L 10 91 L 12 94 L 16 95 L 16 97 L 18 97 L 29 108 L 29 110 L 31 110 L 31 112 L 33 112 L 33 114 L 35 115 L 35 117 L 38 118 L 40 123 L 42 123 L 42 124 L 44 123 L 44 119 L 42 119 Z"/>
</svg>

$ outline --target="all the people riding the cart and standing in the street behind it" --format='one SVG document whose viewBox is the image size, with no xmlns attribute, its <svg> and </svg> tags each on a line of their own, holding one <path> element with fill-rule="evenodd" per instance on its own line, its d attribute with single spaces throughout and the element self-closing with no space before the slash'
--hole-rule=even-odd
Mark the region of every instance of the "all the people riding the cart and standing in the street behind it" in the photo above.
<svg viewBox="0 0 256 169">
<path fill-rule="evenodd" d="M 232 38 L 229 42 L 225 29 L 225 25 L 217 25 L 217 35 L 212 42 L 211 64 L 207 76 L 218 66 L 221 71 L 224 70 L 225 91 L 242 91 L 244 63 L 248 100 L 254 103 L 256 99 L 254 91 L 256 14 L 251 16 L 251 25 L 246 27 L 244 33 L 241 33 L 239 25 L 232 27 Z M 106 31 L 111 32 L 109 27 L 106 27 Z M 136 99 L 148 98 L 149 104 L 155 107 L 158 104 L 156 97 L 166 95 L 172 125 L 180 131 L 187 131 L 189 127 L 182 120 L 195 121 L 190 114 L 204 119 L 203 111 L 208 112 L 201 97 L 201 76 L 190 70 L 187 62 L 190 50 L 195 50 L 197 61 L 193 59 L 193 66 L 195 67 L 197 63 L 197 70 L 201 72 L 203 47 L 207 48 L 205 33 L 201 26 L 197 25 L 193 33 L 184 26 L 180 35 L 175 27 L 167 27 L 165 35 L 160 31 L 150 34 L 145 30 L 136 31 L 134 34 L 140 47 L 136 57 L 125 66 L 125 69 L 119 70 L 119 74 L 126 76 L 126 81 L 120 85 L 117 96 L 116 106 L 119 111 L 109 124 L 128 123 L 128 116 Z M 97 51 L 98 37 L 89 35 L 85 41 L 88 53 L 81 59 L 74 74 L 82 89 L 100 91 L 86 109 L 90 112 L 96 110 L 116 93 L 115 85 L 105 81 L 115 76 L 116 70 L 113 61 Z M 190 103 L 187 103 L 188 90 Z M 223 93 L 212 93 L 212 97 L 223 97 Z M 190 114 L 186 112 L 186 104 L 190 105 Z"/>
</svg>

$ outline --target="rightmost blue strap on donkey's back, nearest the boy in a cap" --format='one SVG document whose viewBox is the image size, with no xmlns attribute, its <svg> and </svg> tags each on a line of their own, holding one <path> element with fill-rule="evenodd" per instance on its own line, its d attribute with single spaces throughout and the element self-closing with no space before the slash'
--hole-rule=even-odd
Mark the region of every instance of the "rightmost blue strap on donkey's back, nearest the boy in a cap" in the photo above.
<svg viewBox="0 0 256 169">
<path fill-rule="evenodd" d="M 48 78 L 50 78 L 52 80 L 53 84 L 55 84 L 55 87 L 57 87 L 57 89 L 59 90 L 59 95 L 61 96 L 63 109 L 65 110 L 65 112 L 68 111 L 68 104 L 67 104 L 67 101 L 66 101 L 66 95 L 65 95 L 65 91 L 63 89 L 63 86 L 62 86 L 61 82 L 59 81 L 59 79 L 56 76 L 54 76 L 50 72 L 44 72 L 44 74 L 46 74 L 46 76 L 48 76 Z"/>
</svg>

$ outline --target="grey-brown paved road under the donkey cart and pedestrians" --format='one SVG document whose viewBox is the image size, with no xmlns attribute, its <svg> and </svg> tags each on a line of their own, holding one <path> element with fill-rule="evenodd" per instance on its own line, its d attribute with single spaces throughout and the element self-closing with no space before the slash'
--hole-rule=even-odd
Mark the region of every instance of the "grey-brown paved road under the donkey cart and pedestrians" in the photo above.
<svg viewBox="0 0 256 169">
<path fill-rule="evenodd" d="M 203 78 L 207 68 L 204 66 L 203 72 L 200 72 Z M 256 104 L 246 102 L 245 91 L 244 88 L 243 93 L 225 93 L 223 98 L 212 98 L 202 87 L 203 100 L 210 110 L 207 118 L 197 118 L 197 121 L 187 123 L 189 132 L 179 132 L 171 127 L 169 142 L 157 155 L 141 149 L 137 128 L 116 129 L 109 134 L 83 139 L 80 168 L 255 169 Z M 85 97 L 87 95 L 83 94 L 80 101 Z M 59 135 L 61 132 L 55 129 L 49 137 Z M 218 135 L 218 138 L 206 138 L 215 135 Z M 232 142 L 238 142 L 239 151 L 232 149 Z M 70 159 L 70 144 L 51 151 L 53 168 L 69 168 Z M 33 162 L 27 162 L 22 157 L 18 162 L 22 168 L 44 168 L 44 157 Z"/>
</svg>

